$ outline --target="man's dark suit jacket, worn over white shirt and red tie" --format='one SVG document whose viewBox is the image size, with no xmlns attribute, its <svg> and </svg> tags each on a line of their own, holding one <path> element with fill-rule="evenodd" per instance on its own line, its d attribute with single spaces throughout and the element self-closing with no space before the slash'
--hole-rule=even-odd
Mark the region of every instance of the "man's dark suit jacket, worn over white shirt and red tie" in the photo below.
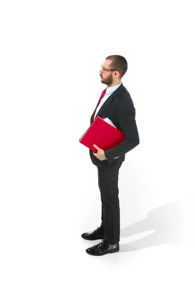
<svg viewBox="0 0 195 293">
<path fill-rule="evenodd" d="M 101 106 L 96 118 L 98 116 L 102 119 L 108 117 L 117 129 L 124 133 L 125 140 L 122 141 L 120 145 L 104 150 L 107 160 L 103 161 L 96 158 L 93 151 L 89 149 L 92 163 L 99 167 L 105 167 L 108 164 L 117 167 L 118 162 L 125 160 L 125 153 L 139 144 L 139 135 L 135 119 L 136 109 L 130 93 L 122 83 Z"/>
</svg>

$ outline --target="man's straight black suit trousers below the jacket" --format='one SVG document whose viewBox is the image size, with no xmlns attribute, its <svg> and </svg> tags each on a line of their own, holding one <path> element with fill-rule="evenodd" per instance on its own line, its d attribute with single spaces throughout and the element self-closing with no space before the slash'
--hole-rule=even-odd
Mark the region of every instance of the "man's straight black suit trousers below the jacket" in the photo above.
<svg viewBox="0 0 195 293">
<path fill-rule="evenodd" d="M 120 208 L 118 198 L 118 173 L 123 161 L 113 167 L 98 167 L 98 186 L 101 194 L 101 225 L 104 241 L 115 244 L 120 241 Z"/>
</svg>

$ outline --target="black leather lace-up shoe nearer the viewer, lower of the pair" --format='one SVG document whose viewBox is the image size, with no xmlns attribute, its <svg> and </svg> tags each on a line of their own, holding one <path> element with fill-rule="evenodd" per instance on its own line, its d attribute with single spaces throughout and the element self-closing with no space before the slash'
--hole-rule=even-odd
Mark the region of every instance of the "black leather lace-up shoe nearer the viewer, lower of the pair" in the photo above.
<svg viewBox="0 0 195 293">
<path fill-rule="evenodd" d="M 107 253 L 115 253 L 117 251 L 119 251 L 119 242 L 109 244 L 101 241 L 98 244 L 86 249 L 86 252 L 92 255 L 105 255 Z"/>
</svg>

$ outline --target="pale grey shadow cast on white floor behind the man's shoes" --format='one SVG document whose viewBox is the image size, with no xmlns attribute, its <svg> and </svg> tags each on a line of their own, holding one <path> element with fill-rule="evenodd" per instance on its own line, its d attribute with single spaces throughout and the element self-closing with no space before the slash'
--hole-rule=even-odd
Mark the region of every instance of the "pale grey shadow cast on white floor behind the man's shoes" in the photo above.
<svg viewBox="0 0 195 293">
<path fill-rule="evenodd" d="M 120 230 L 120 238 L 154 230 L 137 241 L 120 244 L 119 252 L 137 251 L 152 246 L 174 244 L 188 246 L 195 242 L 195 201 L 180 200 L 148 212 L 147 218 Z"/>
</svg>

